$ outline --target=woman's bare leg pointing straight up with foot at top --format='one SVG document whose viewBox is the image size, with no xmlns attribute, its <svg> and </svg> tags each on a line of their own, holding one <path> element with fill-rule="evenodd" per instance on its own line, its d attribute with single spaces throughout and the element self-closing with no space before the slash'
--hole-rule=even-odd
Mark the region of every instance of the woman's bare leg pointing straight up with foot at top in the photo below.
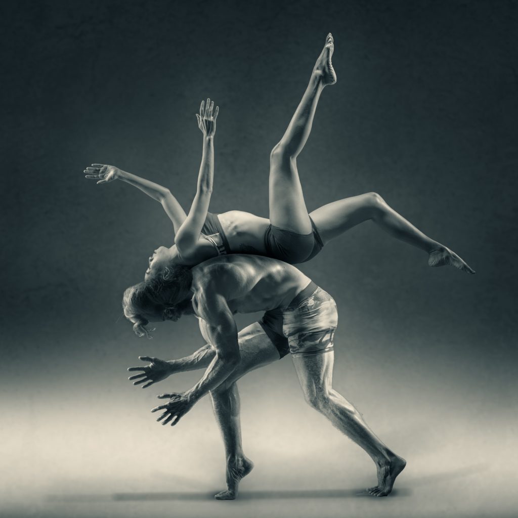
<svg viewBox="0 0 518 518">
<path fill-rule="evenodd" d="M 308 140 L 316 104 L 322 90 L 327 84 L 336 82 L 336 74 L 331 64 L 333 50 L 333 36 L 328 34 L 325 47 L 313 68 L 306 92 L 282 139 L 270 154 L 271 224 L 299 234 L 311 232 L 311 221 L 304 202 L 296 159 Z"/>
</svg>

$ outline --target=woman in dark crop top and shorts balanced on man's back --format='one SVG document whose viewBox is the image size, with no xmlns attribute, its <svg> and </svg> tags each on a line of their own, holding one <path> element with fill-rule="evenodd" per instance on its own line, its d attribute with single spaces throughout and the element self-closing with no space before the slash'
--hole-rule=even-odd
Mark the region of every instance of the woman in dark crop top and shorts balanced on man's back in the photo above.
<svg viewBox="0 0 518 518">
<path fill-rule="evenodd" d="M 86 178 L 97 180 L 98 184 L 119 179 L 156 199 L 174 227 L 175 244 L 157 248 L 149 257 L 145 283 L 137 284 L 125 293 L 124 312 L 134 322 L 139 336 L 148 333 L 143 325 L 150 320 L 142 315 L 143 306 L 149 307 L 148 316 L 158 312 L 163 317 L 161 320 L 168 318 L 167 306 L 172 303 L 160 294 L 161 286 L 164 282 L 169 285 L 182 282 L 185 267 L 228 253 L 253 253 L 290 264 L 304 263 L 318 254 L 327 242 L 367 220 L 375 221 L 394 237 L 426 251 L 430 266 L 452 265 L 474 273 L 458 255 L 420 232 L 376 193 L 344 198 L 308 213 L 296 159 L 308 139 L 324 87 L 336 82 L 331 62 L 333 50 L 333 36 L 328 34 L 290 125 L 271 151 L 269 220 L 236 210 L 218 215 L 208 212 L 214 172 L 213 138 L 219 112 L 218 107 L 214 110 L 210 99 L 207 103 L 202 102 L 199 114 L 196 114 L 203 133 L 203 154 L 196 196 L 188 215 L 170 191 L 161 185 L 105 164 L 92 164 L 85 169 Z M 168 292 L 167 298 L 170 296 Z"/>
</svg>

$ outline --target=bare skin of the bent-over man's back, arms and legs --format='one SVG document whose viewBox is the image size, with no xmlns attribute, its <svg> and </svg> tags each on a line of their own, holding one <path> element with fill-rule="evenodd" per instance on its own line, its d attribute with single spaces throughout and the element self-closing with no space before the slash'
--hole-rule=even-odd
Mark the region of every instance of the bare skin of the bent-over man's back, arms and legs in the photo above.
<svg viewBox="0 0 518 518">
<path fill-rule="evenodd" d="M 203 378 L 183 394 L 167 393 L 159 396 L 169 401 L 152 411 L 163 411 L 157 421 L 174 426 L 203 395 L 210 392 L 227 456 L 227 490 L 219 493 L 218 499 L 235 498 L 240 480 L 253 468 L 253 463 L 242 451 L 239 397 L 235 383 L 246 372 L 279 357 L 269 339 L 261 336 L 260 326 L 256 329 L 258 334 L 248 341 L 246 334 L 240 335 L 238 340 L 232 315 L 237 312 L 284 308 L 308 283 L 309 279 L 295 267 L 253 255 L 218 257 L 193 268 L 193 283 L 189 292 L 185 293 L 185 298 L 192 298 L 194 313 L 200 319 L 200 330 L 214 348 L 214 356 L 202 352 L 204 348 L 198 354 L 195 353 L 200 358 L 200 365 L 210 362 Z M 173 320 L 178 320 L 181 314 L 193 312 L 186 309 L 185 305 L 182 308 L 185 309 L 176 312 Z M 387 448 L 372 433 L 350 402 L 333 389 L 334 353 L 329 351 L 293 359 L 308 403 L 362 447 L 375 462 L 378 486 L 377 491 L 372 490 L 371 494 L 389 494 L 405 461 Z M 141 377 L 139 382 L 162 379 L 168 363 L 156 362 L 153 358 L 151 361 L 147 369 L 141 368 L 144 376 L 138 375 Z M 182 364 L 189 369 L 194 365 L 192 358 L 175 363 L 177 368 Z"/>
</svg>

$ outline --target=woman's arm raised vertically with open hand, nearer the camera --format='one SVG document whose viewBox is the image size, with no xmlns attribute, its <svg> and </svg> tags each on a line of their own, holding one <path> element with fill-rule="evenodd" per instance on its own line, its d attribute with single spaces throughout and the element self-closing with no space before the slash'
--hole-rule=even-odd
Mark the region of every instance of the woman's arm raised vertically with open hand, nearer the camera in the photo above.
<svg viewBox="0 0 518 518">
<path fill-rule="evenodd" d="M 214 177 L 214 134 L 219 112 L 218 106 L 214 112 L 213 108 L 214 102 L 207 99 L 207 104 L 202 101 L 199 114 L 196 114 L 198 127 L 203 133 L 202 164 L 199 168 L 198 186 L 191 210 L 176 234 L 175 244 L 183 255 L 188 255 L 196 247 L 209 210 Z"/>
</svg>

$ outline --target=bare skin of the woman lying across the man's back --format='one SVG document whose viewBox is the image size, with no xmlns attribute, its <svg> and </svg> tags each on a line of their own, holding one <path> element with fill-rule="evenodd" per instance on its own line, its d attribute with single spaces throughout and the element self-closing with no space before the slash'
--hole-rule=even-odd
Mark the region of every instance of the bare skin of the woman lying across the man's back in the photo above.
<svg viewBox="0 0 518 518">
<path fill-rule="evenodd" d="M 311 232 L 309 217 L 311 217 L 325 245 L 350 228 L 370 220 L 393 237 L 424 250 L 428 254 L 430 266 L 451 265 L 462 271 L 474 273 L 474 270 L 458 255 L 419 231 L 376 193 L 343 198 L 324 205 L 308 215 L 298 176 L 297 157 L 311 133 L 320 95 L 326 85 L 336 82 L 336 73 L 331 61 L 333 52 L 334 39 L 331 34 L 328 34 L 324 48 L 313 67 L 306 91 L 284 135 L 271 151 L 269 219 L 243 211 L 228 211 L 218 215 L 232 253 L 266 255 L 264 236 L 270 222 L 280 228 L 309 234 Z M 214 112 L 212 108 L 213 102 L 207 99 L 206 104 L 202 102 L 199 114 L 196 114 L 198 127 L 204 136 L 204 145 L 196 196 L 189 215 L 185 214 L 170 191 L 159 184 L 106 164 L 92 164 L 84 170 L 87 178 L 97 180 L 99 184 L 116 179 L 130 183 L 159 201 L 164 207 L 174 227 L 175 244 L 158 247 L 151 254 L 146 279 L 164 263 L 192 266 L 217 255 L 211 243 L 201 234 L 212 192 L 213 138 L 218 107 Z"/>
</svg>

